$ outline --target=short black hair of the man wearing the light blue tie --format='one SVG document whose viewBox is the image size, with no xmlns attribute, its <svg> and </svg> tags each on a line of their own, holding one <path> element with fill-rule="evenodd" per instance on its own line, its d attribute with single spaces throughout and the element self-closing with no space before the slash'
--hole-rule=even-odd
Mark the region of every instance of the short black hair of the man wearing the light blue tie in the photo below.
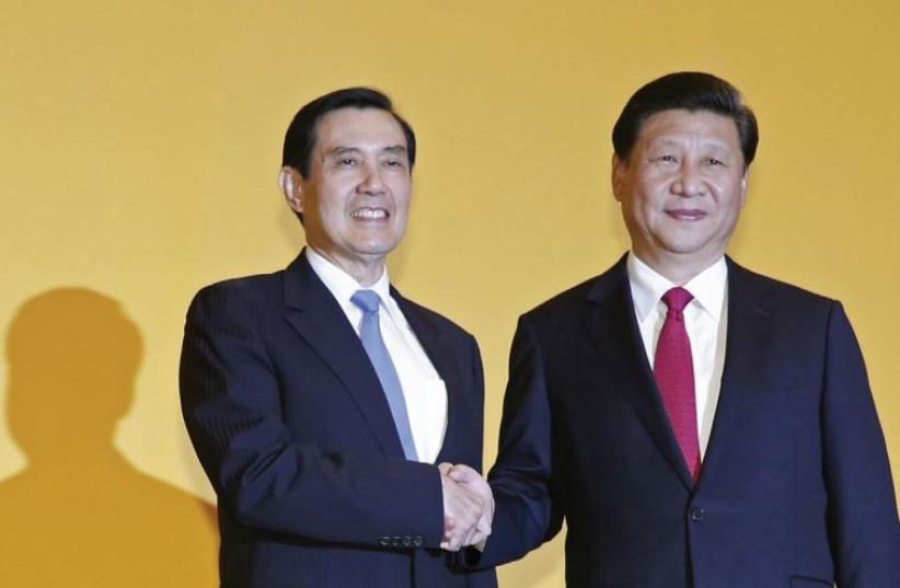
<svg viewBox="0 0 900 588">
<path fill-rule="evenodd" d="M 315 148 L 315 126 L 323 116 L 339 108 L 378 108 L 393 116 L 406 137 L 406 155 L 409 169 L 413 169 L 416 162 L 416 135 L 413 127 L 394 112 L 391 99 L 371 88 L 335 90 L 300 108 L 285 134 L 281 165 L 293 168 L 304 178 L 309 177 L 312 151 Z"/>
</svg>

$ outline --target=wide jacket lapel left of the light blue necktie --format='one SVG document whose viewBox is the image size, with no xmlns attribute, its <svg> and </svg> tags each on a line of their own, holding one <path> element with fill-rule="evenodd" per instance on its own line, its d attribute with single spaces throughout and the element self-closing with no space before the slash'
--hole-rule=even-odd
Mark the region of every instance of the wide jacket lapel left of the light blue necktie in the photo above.
<svg viewBox="0 0 900 588">
<path fill-rule="evenodd" d="M 285 320 L 353 396 L 381 451 L 403 458 L 391 408 L 366 349 L 337 300 L 301 252 L 284 273 Z"/>
</svg>

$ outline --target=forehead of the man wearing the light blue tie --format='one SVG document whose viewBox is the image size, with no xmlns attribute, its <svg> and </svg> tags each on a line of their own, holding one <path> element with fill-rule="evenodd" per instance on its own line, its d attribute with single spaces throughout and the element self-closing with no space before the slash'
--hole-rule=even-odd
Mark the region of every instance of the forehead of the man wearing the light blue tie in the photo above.
<svg viewBox="0 0 900 588">
<path fill-rule="evenodd" d="M 380 108 L 338 108 L 315 125 L 315 151 L 338 147 L 383 149 L 406 147 L 406 137 L 393 115 Z"/>
</svg>

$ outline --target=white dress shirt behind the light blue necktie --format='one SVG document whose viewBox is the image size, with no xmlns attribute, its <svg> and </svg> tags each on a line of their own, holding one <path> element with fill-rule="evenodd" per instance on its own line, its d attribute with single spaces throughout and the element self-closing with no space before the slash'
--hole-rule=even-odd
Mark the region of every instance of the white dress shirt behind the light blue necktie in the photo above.
<svg viewBox="0 0 900 588">
<path fill-rule="evenodd" d="M 364 287 L 312 247 L 307 247 L 307 260 L 325 288 L 341 304 L 347 320 L 359 335 L 362 311 L 350 301 L 350 297 Z M 418 461 L 434 463 L 443 445 L 443 435 L 447 430 L 447 385 L 409 328 L 409 323 L 406 322 L 396 301 L 391 297 L 386 267 L 378 281 L 368 289 L 376 291 L 381 298 L 378 313 L 381 336 L 388 353 L 391 354 L 400 385 L 403 388 L 416 456 Z"/>
</svg>

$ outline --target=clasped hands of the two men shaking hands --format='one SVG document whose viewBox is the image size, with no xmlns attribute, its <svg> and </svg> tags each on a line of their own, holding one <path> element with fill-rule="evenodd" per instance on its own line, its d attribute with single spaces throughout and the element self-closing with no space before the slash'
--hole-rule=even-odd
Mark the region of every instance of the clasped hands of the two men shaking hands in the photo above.
<svg viewBox="0 0 900 588">
<path fill-rule="evenodd" d="M 443 491 L 441 549 L 459 551 L 484 542 L 494 518 L 491 486 L 478 472 L 462 463 L 441 463 L 438 470 Z"/>
</svg>

